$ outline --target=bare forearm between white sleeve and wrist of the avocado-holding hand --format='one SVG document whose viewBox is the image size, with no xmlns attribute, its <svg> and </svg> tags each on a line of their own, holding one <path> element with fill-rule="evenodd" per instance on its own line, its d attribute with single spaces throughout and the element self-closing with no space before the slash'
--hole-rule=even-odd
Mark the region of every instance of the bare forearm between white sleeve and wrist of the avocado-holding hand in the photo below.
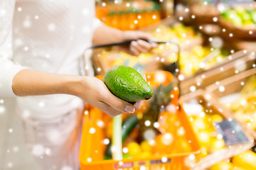
<svg viewBox="0 0 256 170">
<path fill-rule="evenodd" d="M 23 69 L 13 79 L 12 89 L 17 96 L 71 94 L 78 96 L 82 77 Z"/>
</svg>

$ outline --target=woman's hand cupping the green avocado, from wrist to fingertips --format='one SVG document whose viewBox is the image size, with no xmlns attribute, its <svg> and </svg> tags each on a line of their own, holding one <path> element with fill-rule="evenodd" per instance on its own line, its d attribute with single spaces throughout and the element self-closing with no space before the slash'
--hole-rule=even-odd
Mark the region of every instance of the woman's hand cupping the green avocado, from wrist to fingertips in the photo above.
<svg viewBox="0 0 256 170">
<path fill-rule="evenodd" d="M 139 101 L 132 105 L 117 98 L 100 79 L 95 77 L 82 77 L 80 88 L 78 92 L 80 98 L 112 117 L 122 113 L 134 113 L 135 110 L 141 108 L 143 103 Z"/>
</svg>

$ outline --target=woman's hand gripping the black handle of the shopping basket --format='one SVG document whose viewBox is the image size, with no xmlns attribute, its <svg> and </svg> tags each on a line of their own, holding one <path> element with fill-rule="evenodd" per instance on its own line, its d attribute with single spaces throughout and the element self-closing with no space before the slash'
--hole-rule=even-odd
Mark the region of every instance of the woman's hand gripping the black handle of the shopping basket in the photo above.
<svg viewBox="0 0 256 170">
<path fill-rule="evenodd" d="M 132 52 L 132 55 L 140 55 L 141 52 L 147 53 L 152 48 L 157 47 L 158 45 L 154 42 L 157 41 L 154 36 L 149 33 L 144 33 L 137 30 L 127 30 L 123 32 L 123 39 L 125 40 L 134 40 L 132 41 L 129 50 Z M 151 41 L 152 43 L 146 42 L 145 40 Z"/>
</svg>

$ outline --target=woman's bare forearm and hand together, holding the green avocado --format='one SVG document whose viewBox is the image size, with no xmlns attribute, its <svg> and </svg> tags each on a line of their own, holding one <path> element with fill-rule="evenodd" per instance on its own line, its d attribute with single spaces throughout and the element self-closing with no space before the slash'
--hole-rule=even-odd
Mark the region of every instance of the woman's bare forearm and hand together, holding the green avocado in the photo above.
<svg viewBox="0 0 256 170">
<path fill-rule="evenodd" d="M 143 101 L 132 105 L 114 96 L 107 86 L 95 77 L 54 74 L 23 69 L 16 74 L 12 89 L 17 96 L 70 94 L 82 98 L 110 116 L 134 113 Z"/>
</svg>

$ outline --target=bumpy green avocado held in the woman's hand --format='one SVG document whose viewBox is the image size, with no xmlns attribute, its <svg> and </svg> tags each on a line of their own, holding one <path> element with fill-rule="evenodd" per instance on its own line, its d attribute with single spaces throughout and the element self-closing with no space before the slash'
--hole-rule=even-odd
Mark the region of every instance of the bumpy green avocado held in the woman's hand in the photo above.
<svg viewBox="0 0 256 170">
<path fill-rule="evenodd" d="M 107 71 L 103 81 L 114 96 L 124 101 L 144 101 L 153 96 L 151 86 L 132 67 L 113 67 Z"/>
</svg>

